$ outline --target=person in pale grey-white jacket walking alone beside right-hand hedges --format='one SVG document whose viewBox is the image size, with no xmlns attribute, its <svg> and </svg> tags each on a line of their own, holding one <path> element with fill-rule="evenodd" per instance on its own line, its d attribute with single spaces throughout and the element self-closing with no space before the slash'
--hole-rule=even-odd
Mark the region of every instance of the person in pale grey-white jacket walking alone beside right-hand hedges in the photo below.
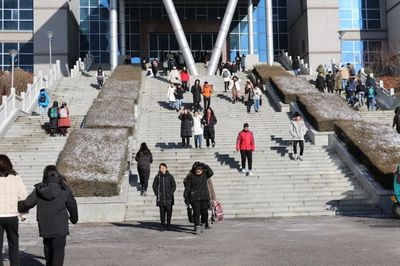
<svg viewBox="0 0 400 266">
<path fill-rule="evenodd" d="M 307 133 L 307 127 L 301 115 L 296 112 L 290 122 L 290 135 L 293 139 L 293 159 L 303 161 L 304 136 Z M 297 144 L 300 146 L 300 155 L 297 155 Z"/>
</svg>

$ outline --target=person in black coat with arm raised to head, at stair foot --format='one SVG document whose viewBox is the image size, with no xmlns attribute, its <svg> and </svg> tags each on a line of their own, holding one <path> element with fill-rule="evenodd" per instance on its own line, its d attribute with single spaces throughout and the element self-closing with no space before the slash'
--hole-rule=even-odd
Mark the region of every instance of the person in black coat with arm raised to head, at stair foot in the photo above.
<svg viewBox="0 0 400 266">
<path fill-rule="evenodd" d="M 185 179 L 183 197 L 185 198 L 185 203 L 192 205 L 193 208 L 195 234 L 203 233 L 205 230 L 210 203 L 207 181 L 213 175 L 214 173 L 208 165 L 195 163 Z"/>
</svg>

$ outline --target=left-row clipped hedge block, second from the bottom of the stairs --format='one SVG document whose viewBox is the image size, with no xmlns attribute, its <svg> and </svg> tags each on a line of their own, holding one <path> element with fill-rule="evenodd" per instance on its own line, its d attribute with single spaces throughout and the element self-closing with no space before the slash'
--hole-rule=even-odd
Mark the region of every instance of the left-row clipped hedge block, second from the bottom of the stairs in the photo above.
<svg viewBox="0 0 400 266">
<path fill-rule="evenodd" d="M 86 128 L 130 128 L 135 124 L 135 102 L 123 98 L 98 98 L 86 115 Z"/>
</svg>

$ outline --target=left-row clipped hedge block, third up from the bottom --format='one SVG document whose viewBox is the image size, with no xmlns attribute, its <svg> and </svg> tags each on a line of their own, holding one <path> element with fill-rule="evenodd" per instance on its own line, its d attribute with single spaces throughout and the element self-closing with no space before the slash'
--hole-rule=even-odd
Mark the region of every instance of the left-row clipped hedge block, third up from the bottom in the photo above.
<svg viewBox="0 0 400 266">
<path fill-rule="evenodd" d="M 109 78 L 99 93 L 99 98 L 123 98 L 136 101 L 139 95 L 138 81 L 119 81 Z"/>
</svg>

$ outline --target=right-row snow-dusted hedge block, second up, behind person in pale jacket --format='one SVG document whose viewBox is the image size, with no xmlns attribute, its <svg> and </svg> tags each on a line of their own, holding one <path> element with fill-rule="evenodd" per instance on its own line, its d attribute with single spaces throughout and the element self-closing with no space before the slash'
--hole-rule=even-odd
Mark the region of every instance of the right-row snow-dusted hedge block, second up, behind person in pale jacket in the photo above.
<svg viewBox="0 0 400 266">
<path fill-rule="evenodd" d="M 360 121 L 362 117 L 339 96 L 329 93 L 299 94 L 297 104 L 318 131 L 333 131 L 338 121 Z"/>
</svg>

